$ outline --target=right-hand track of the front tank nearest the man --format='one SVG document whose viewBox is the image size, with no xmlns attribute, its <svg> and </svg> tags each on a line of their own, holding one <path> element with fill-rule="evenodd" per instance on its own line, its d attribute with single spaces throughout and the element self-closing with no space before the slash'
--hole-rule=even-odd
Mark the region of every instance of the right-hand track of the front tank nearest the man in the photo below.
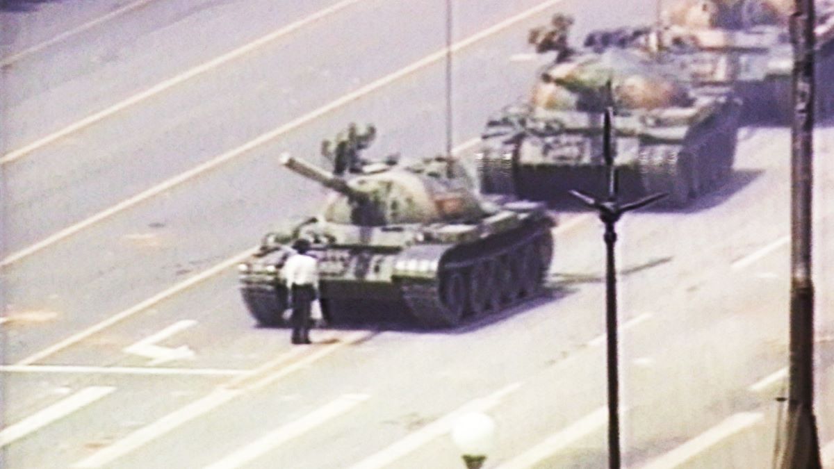
<svg viewBox="0 0 834 469">
<path fill-rule="evenodd" d="M 550 224 L 544 223 L 541 220 L 536 220 L 519 229 L 514 229 L 503 235 L 502 238 L 503 240 L 513 240 L 514 242 L 510 245 L 484 246 L 484 243 L 478 243 L 477 245 L 467 246 L 467 251 L 477 252 L 479 253 L 478 255 L 469 255 L 469 252 L 466 254 L 456 253 L 453 250 L 449 255 L 445 256 L 439 269 L 441 275 L 450 275 L 450 272 L 456 272 L 469 280 L 469 275 L 478 262 L 499 260 L 502 255 L 506 255 L 513 250 L 520 250 L 532 246 L 536 250 L 535 258 L 539 260 L 539 264 L 536 267 L 537 271 L 535 274 L 532 274 L 535 278 L 535 289 L 520 292 L 519 295 L 513 297 L 496 297 L 495 304 L 489 309 L 491 312 L 506 309 L 538 295 L 546 278 L 547 271 L 550 269 L 550 259 L 552 257 L 553 238 L 550 234 Z M 504 274 L 501 271 L 497 271 L 496 275 Z M 462 314 L 451 312 L 450 308 L 444 305 L 441 300 L 441 289 L 443 288 L 441 284 L 442 280 L 440 278 L 431 281 L 404 280 L 400 284 L 405 304 L 409 307 L 412 315 L 422 324 L 434 328 L 450 327 L 458 325 L 460 320 L 467 316 L 480 315 L 487 312 L 487 310 L 473 311 L 468 306 Z M 466 285 L 469 285 L 469 283 L 466 282 Z M 467 289 L 467 300 L 471 294 L 472 292 Z"/>
</svg>

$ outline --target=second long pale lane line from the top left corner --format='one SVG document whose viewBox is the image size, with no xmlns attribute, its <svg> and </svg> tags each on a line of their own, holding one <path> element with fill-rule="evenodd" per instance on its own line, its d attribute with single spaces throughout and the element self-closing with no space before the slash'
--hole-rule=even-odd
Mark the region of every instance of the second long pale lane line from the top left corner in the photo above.
<svg viewBox="0 0 834 469">
<path fill-rule="evenodd" d="M 26 154 L 32 153 L 36 149 L 51 144 L 55 140 L 67 136 L 68 134 L 73 134 L 73 132 L 83 129 L 90 124 L 95 124 L 102 119 L 108 118 L 109 116 L 113 115 L 114 113 L 118 113 L 124 108 L 133 106 L 133 104 L 143 101 L 144 99 L 150 98 L 158 93 L 162 93 L 168 88 L 172 88 L 173 86 L 178 85 L 179 83 L 183 83 L 184 81 L 194 78 L 202 73 L 206 73 L 209 70 L 218 68 L 220 65 L 234 60 L 235 58 L 239 58 L 245 53 L 252 52 L 254 49 L 259 48 L 266 43 L 286 36 L 289 33 L 293 33 L 294 31 L 298 30 L 299 28 L 303 28 L 309 23 L 313 23 L 321 18 L 329 16 L 330 14 L 336 13 L 341 9 L 347 8 L 350 5 L 354 3 L 359 3 L 361 1 L 362 0 L 344 0 L 342 2 L 336 3 L 335 5 L 332 5 L 328 8 L 324 8 L 316 13 L 313 13 L 312 15 L 309 15 L 306 18 L 299 19 L 294 23 L 289 23 L 287 26 L 279 28 L 278 30 L 269 33 L 266 36 L 255 39 L 254 41 L 247 43 L 239 48 L 236 48 L 233 51 L 224 53 L 223 55 L 213 58 L 206 63 L 201 63 L 197 67 L 189 68 L 185 72 L 179 73 L 177 76 L 173 78 L 168 78 L 163 82 L 153 85 L 151 88 L 148 88 L 141 93 L 136 93 L 133 96 L 123 99 L 122 101 L 119 101 L 118 103 L 115 103 L 108 108 L 104 108 L 98 111 L 97 113 L 90 114 L 84 119 L 78 120 L 73 124 L 69 124 L 63 129 L 58 130 L 57 132 L 53 132 L 53 134 L 48 134 L 46 137 L 43 137 L 42 139 L 38 139 L 31 144 L 23 146 L 23 148 L 13 150 L 8 154 L 4 154 L 3 158 L 0 158 L 0 164 L 7 164 L 14 161 L 15 159 L 19 159 L 25 156 Z"/>
</svg>

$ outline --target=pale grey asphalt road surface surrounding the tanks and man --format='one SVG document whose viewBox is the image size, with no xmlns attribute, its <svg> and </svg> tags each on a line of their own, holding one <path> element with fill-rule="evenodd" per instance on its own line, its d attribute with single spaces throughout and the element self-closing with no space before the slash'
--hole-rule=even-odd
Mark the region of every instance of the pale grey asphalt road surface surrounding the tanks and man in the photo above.
<svg viewBox="0 0 834 469">
<path fill-rule="evenodd" d="M 540 4 L 455 5 L 455 144 L 529 89 L 540 62 L 519 54 L 550 13 L 575 14 L 577 37 L 654 16 L 602 1 L 516 16 Z M 22 25 L 0 49 L 3 467 L 452 468 L 450 426 L 473 409 L 498 428 L 487 466 L 605 466 L 590 215 L 560 214 L 548 297 L 456 330 L 315 330 L 292 348 L 239 300 L 234 257 L 324 197 L 281 152 L 321 164 L 320 140 L 354 120 L 377 125 L 372 155 L 445 148 L 443 3 L 78 5 L 0 11 Z M 740 137 L 726 187 L 620 224 L 627 466 L 771 465 L 789 132 Z M 831 129 L 816 149 L 816 415 L 834 464 Z"/>
</svg>

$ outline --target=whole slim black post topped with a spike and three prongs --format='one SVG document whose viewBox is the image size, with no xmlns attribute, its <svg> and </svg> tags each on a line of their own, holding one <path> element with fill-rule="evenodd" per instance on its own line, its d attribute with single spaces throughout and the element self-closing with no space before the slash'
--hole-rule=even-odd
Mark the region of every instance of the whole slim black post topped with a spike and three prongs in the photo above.
<svg viewBox="0 0 834 469">
<path fill-rule="evenodd" d="M 610 84 L 609 84 L 610 88 Z M 617 169 L 614 166 L 614 150 L 612 146 L 613 130 L 611 120 L 614 109 L 605 109 L 603 121 L 602 147 L 605 158 L 605 169 L 608 183 L 608 195 L 605 199 L 597 199 L 579 190 L 571 190 L 583 204 L 595 209 L 600 214 L 600 220 L 605 224 L 605 334 L 607 337 L 608 354 L 608 459 L 611 469 L 620 469 L 620 378 L 617 365 L 617 273 L 614 259 L 614 245 L 617 241 L 615 224 L 625 212 L 640 209 L 653 204 L 666 194 L 651 194 L 643 199 L 629 204 L 620 204 L 618 199 Z"/>
</svg>

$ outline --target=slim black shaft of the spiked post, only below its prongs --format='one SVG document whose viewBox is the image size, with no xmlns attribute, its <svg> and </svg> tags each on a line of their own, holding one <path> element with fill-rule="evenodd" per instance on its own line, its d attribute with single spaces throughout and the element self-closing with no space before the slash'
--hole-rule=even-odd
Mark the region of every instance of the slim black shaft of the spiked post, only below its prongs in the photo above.
<svg viewBox="0 0 834 469">
<path fill-rule="evenodd" d="M 608 338 L 608 463 L 620 469 L 620 376 L 617 366 L 617 277 L 614 221 L 605 222 L 605 334 Z"/>
</svg>

